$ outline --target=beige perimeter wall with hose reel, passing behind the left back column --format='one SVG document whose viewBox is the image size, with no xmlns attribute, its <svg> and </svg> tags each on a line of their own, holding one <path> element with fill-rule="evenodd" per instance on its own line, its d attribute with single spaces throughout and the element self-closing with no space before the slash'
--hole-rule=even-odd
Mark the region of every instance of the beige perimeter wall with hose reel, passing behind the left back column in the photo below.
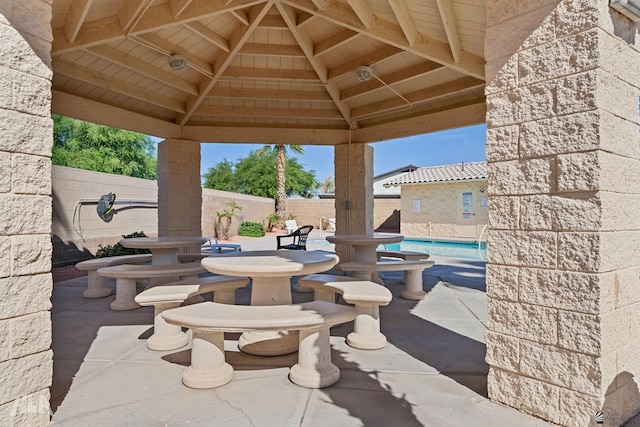
<svg viewBox="0 0 640 427">
<path fill-rule="evenodd" d="M 156 201 L 158 186 L 155 181 L 91 172 L 61 166 L 52 168 L 53 193 L 53 264 L 65 265 L 95 255 L 100 245 L 113 245 L 123 235 L 143 231 L 148 236 L 158 234 L 157 209 L 125 209 L 104 222 L 96 213 L 95 205 L 77 206 L 80 199 L 97 199 L 113 192 L 116 201 Z M 238 234 L 242 221 L 266 225 L 266 217 L 274 211 L 272 199 L 202 189 L 202 235 L 215 236 L 216 211 L 235 201 L 243 210 L 233 219 L 230 235 Z M 126 205 L 116 205 L 120 209 Z M 74 215 L 75 212 L 75 215 Z M 42 212 L 42 215 L 46 215 Z"/>
</svg>

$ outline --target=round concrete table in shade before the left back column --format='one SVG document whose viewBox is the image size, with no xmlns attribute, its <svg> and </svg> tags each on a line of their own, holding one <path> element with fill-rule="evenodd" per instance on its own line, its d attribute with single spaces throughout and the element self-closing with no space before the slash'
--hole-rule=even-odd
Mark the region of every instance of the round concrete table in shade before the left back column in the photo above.
<svg viewBox="0 0 640 427">
<path fill-rule="evenodd" d="M 197 246 L 208 242 L 204 237 L 191 236 L 160 236 L 160 237 L 130 237 L 120 240 L 120 244 L 125 248 L 149 249 L 151 251 L 152 265 L 173 265 L 178 264 L 178 252 L 182 248 Z M 175 282 L 177 277 L 153 278 L 149 285 L 157 286 L 163 283 Z"/>
</svg>

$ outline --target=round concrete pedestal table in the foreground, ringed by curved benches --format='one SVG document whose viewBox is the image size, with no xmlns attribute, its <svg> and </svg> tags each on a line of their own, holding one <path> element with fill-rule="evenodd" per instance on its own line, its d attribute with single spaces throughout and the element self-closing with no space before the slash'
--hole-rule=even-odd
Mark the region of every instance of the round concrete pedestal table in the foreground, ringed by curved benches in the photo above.
<svg viewBox="0 0 640 427">
<path fill-rule="evenodd" d="M 291 277 L 330 270 L 340 259 L 325 251 L 245 251 L 204 258 L 212 273 L 251 277 L 251 305 L 291 304 Z M 298 350 L 298 333 L 245 332 L 238 341 L 245 353 L 276 356 Z"/>
</svg>

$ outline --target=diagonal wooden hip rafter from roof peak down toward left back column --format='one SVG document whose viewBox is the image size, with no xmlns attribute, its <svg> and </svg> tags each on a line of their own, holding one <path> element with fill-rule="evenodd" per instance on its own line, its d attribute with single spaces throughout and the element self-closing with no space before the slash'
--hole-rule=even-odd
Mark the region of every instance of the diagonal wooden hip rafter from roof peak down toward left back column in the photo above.
<svg viewBox="0 0 640 427">
<path fill-rule="evenodd" d="M 249 40 L 255 29 L 258 27 L 258 24 L 260 24 L 260 21 L 262 21 L 262 18 L 269 13 L 269 9 L 271 9 L 272 6 L 273 0 L 269 0 L 260 6 L 254 6 L 249 10 L 251 24 L 248 27 L 239 28 L 229 41 L 229 52 L 225 52 L 216 58 L 216 62 L 213 67 L 213 78 L 201 82 L 199 93 L 187 101 L 187 113 L 178 117 L 178 123 L 180 123 L 181 126 L 186 125 L 189 118 L 191 118 L 191 115 L 193 115 L 198 107 L 200 107 L 200 104 L 202 104 L 202 101 L 207 97 L 209 91 L 224 74 L 229 65 L 231 65 L 231 62 L 233 62 L 238 55 L 238 52 L 240 52 L 244 44 Z"/>
</svg>

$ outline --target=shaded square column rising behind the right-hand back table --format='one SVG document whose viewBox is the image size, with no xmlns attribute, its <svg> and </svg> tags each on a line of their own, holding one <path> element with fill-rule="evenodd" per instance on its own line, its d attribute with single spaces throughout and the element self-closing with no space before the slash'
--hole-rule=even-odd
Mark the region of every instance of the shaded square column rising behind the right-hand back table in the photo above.
<svg viewBox="0 0 640 427">
<path fill-rule="evenodd" d="M 335 147 L 336 234 L 373 233 L 373 147 Z M 342 262 L 351 260 L 348 246 L 336 245 Z"/>
</svg>

